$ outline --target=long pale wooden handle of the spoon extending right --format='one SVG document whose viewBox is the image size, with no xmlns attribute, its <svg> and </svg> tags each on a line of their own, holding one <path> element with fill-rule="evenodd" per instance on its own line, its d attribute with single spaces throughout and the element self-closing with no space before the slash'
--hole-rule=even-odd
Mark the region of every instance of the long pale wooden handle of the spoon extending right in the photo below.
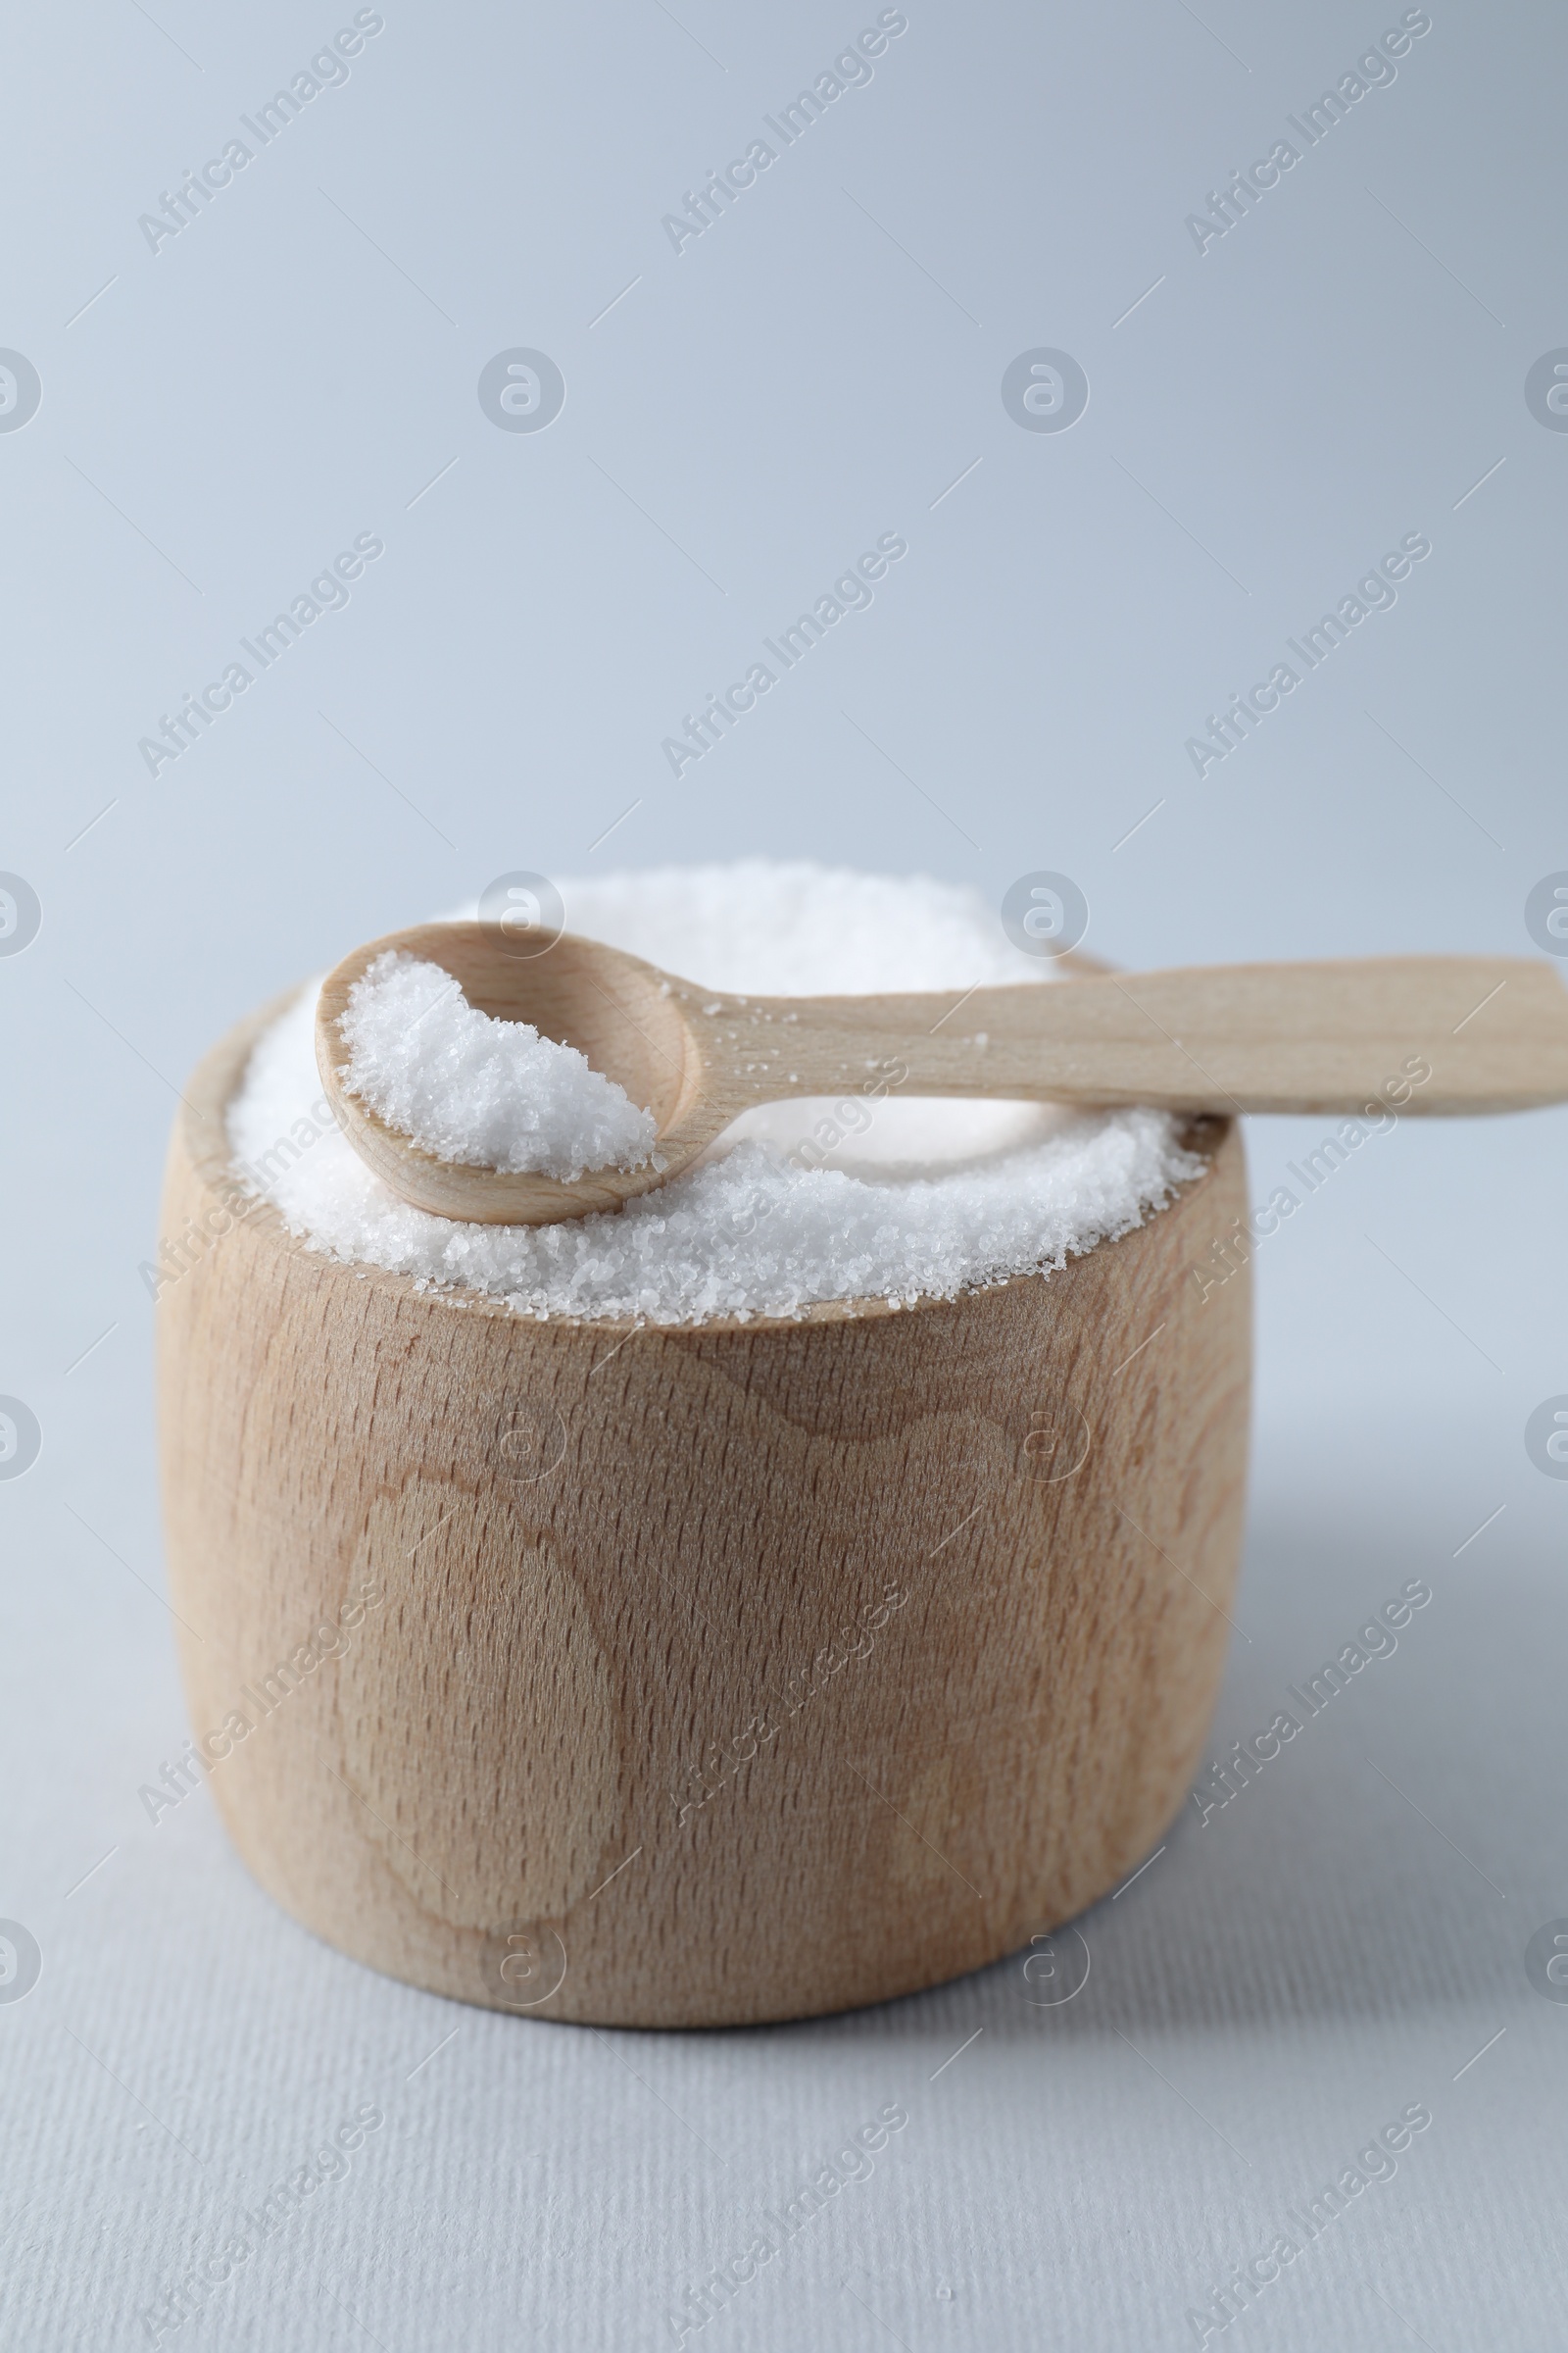
<svg viewBox="0 0 1568 2353">
<path fill-rule="evenodd" d="M 905 1094 L 1164 1111 L 1530 1111 L 1568 1101 L 1568 988 L 1537 960 L 1208 965 L 966 995 L 703 1005 L 736 1101 Z M 891 1073 L 903 1066 L 903 1078 Z M 882 1092 L 882 1089 L 879 1089 Z"/>
</svg>

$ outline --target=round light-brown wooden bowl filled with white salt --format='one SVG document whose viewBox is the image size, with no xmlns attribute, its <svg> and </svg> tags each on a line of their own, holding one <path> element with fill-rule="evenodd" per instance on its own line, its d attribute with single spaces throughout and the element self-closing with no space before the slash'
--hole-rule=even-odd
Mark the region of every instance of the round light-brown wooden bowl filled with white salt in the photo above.
<svg viewBox="0 0 1568 2353">
<path fill-rule="evenodd" d="M 1072 1918 L 1199 1762 L 1251 1311 L 1241 1139 L 1051 1278 L 701 1327 L 534 1322 L 306 1249 L 197 1068 L 162 1487 L 195 1755 L 329 1944 L 496 2009 L 733 2026 Z M 197 1640 L 200 1635 L 200 1640 Z"/>
</svg>

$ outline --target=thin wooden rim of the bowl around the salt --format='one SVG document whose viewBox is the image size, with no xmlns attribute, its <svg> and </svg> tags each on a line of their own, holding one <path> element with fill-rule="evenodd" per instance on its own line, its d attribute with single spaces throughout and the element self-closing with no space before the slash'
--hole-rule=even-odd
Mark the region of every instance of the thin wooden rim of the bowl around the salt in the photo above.
<svg viewBox="0 0 1568 2353">
<path fill-rule="evenodd" d="M 1081 951 L 1070 951 L 1058 958 L 1067 974 L 1074 972 L 1112 972 L 1110 962 L 1095 955 L 1084 955 Z M 235 1198 L 233 1179 L 240 1174 L 233 1146 L 228 1139 L 228 1111 L 235 1094 L 244 1082 L 252 1054 L 261 1038 L 294 1007 L 301 993 L 310 988 L 310 979 L 294 981 L 289 988 L 277 991 L 277 995 L 266 998 L 252 1012 L 233 1021 L 214 1045 L 202 1054 L 186 1092 L 181 1096 L 181 1108 L 176 1113 L 176 1134 L 183 1144 L 186 1158 L 195 1181 L 209 1191 L 221 1193 L 226 1200 Z M 1199 1115 L 1187 1120 L 1182 1129 L 1182 1148 L 1201 1158 L 1204 1172 L 1199 1176 L 1178 1184 L 1159 1209 L 1145 1209 L 1135 1226 L 1124 1233 L 1105 1235 L 1100 1242 L 1091 1242 L 1088 1249 L 1070 1252 L 1070 1264 L 1074 1259 L 1093 1259 L 1100 1252 L 1114 1249 L 1119 1242 L 1128 1242 L 1140 1233 L 1154 1217 L 1164 1217 L 1180 1207 L 1201 1184 L 1213 1174 L 1218 1153 L 1222 1151 L 1229 1129 L 1229 1118 Z M 404 1275 L 390 1266 L 376 1266 L 360 1259 L 341 1259 L 336 1252 L 315 1249 L 306 1233 L 296 1233 L 282 1217 L 277 1202 L 266 1193 L 249 1186 L 237 1188 L 240 1198 L 249 1202 L 242 1219 L 235 1226 L 247 1226 L 254 1233 L 266 1233 L 275 1245 L 284 1247 L 294 1257 L 306 1257 L 315 1268 L 336 1268 L 350 1282 L 371 1282 L 376 1289 L 390 1289 L 400 1299 L 423 1299 L 430 1306 L 442 1306 L 451 1313 L 463 1315 L 489 1315 L 501 1318 L 508 1325 L 520 1325 L 524 1329 L 543 1332 L 595 1332 L 595 1334 L 623 1334 L 630 1339 L 632 1332 L 658 1332 L 679 1339 L 703 1339 L 722 1334 L 762 1334 L 762 1332 L 802 1332 L 816 1325 L 849 1325 L 849 1322 L 877 1322 L 886 1315 L 922 1315 L 938 1308 L 964 1308 L 976 1299 L 999 1297 L 1013 1292 L 1020 1285 L 1046 1285 L 1053 1273 L 1065 1268 L 1032 1268 L 1020 1275 L 1001 1275 L 997 1282 L 978 1282 L 971 1289 L 957 1292 L 952 1299 L 936 1292 L 922 1294 L 919 1299 L 903 1304 L 898 1299 L 884 1297 L 856 1297 L 856 1299 L 813 1299 L 797 1315 L 705 1315 L 701 1322 L 679 1320 L 663 1322 L 646 1315 L 534 1315 L 527 1308 L 508 1306 L 494 1292 L 480 1292 L 458 1282 L 425 1282 L 418 1275 Z M 226 1228 L 233 1231 L 233 1228 Z"/>
</svg>

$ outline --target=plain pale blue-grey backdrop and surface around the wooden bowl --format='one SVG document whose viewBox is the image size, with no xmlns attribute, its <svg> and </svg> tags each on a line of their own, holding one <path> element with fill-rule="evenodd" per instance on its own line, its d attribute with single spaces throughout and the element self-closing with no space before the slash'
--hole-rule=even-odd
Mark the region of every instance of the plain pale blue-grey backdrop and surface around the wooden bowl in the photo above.
<svg viewBox="0 0 1568 2353">
<path fill-rule="evenodd" d="M 1434 1600 L 1081 1922 L 1063 2009 L 1013 1960 L 755 2035 L 494 2019 L 313 1944 L 205 1795 L 153 1828 L 183 1711 L 136 1266 L 205 1045 L 515 866 L 806 854 L 994 904 L 1048 866 L 1131 965 L 1533 953 L 1523 899 L 1568 868 L 1568 435 L 1523 402 L 1568 344 L 1568 26 L 1434 0 L 1199 254 L 1185 216 L 1396 5 L 910 0 L 677 254 L 661 216 L 875 7 L 383 14 L 155 254 L 139 214 L 353 9 L 7 28 L 0 344 L 42 407 L 0 433 L 0 866 L 45 908 L 0 960 L 0 1391 L 45 1431 L 0 1485 L 0 1913 L 42 1946 L 0 2005 L 7 2344 L 148 2344 L 362 2101 L 350 2177 L 165 2344 L 672 2344 L 672 2299 L 889 2099 L 877 2174 L 703 2344 L 1194 2344 L 1187 2306 L 1410 2101 L 1396 2179 L 1239 2327 L 1556 2341 L 1568 2005 L 1523 1946 L 1568 1915 L 1568 1482 L 1523 1424 L 1568 1391 L 1563 1113 L 1406 1122 L 1262 1247 L 1218 1746 L 1403 1579 Z M 480 409 L 512 346 L 564 372 L 545 433 Z M 1001 407 L 1034 346 L 1088 374 L 1070 433 Z M 670 776 L 682 713 L 891 529 L 870 612 Z M 386 555 L 348 609 L 153 779 L 139 736 L 357 532 Z M 1206 713 L 1406 532 L 1399 605 L 1199 781 Z M 1255 1127 L 1255 1198 L 1319 1129 Z"/>
</svg>

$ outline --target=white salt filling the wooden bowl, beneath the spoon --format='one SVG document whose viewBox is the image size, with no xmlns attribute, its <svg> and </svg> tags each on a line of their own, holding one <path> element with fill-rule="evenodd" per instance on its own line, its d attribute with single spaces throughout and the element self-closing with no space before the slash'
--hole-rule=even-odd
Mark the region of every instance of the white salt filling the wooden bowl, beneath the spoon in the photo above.
<svg viewBox="0 0 1568 2353">
<path fill-rule="evenodd" d="M 729 995 L 950 988 L 952 1026 L 973 1038 L 964 991 L 1056 981 L 976 892 L 919 875 L 748 859 L 559 889 L 571 932 Z M 867 1071 L 837 1101 L 748 1113 L 698 1167 L 618 1214 L 454 1224 L 390 1193 L 331 1125 L 315 995 L 313 984 L 252 1054 L 230 1108 L 242 1174 L 310 1249 L 423 1289 L 484 1292 L 520 1315 L 701 1322 L 825 1299 L 954 1299 L 1126 1233 L 1204 1169 L 1166 1113 L 919 1101 Z"/>
</svg>

